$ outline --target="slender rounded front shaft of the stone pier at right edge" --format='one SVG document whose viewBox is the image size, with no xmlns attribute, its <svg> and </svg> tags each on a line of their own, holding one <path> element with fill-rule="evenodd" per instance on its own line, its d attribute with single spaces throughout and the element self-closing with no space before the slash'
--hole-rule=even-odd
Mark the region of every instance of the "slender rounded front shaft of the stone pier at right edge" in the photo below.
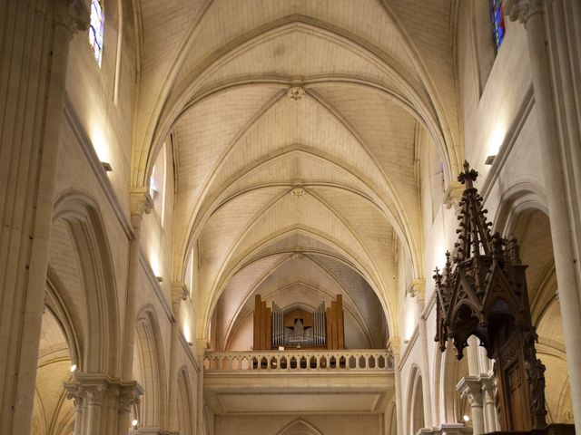
<svg viewBox="0 0 581 435">
<path fill-rule="evenodd" d="M 578 218 L 578 198 L 568 198 L 563 161 L 563 147 L 559 142 L 556 122 L 556 102 L 553 99 L 545 8 L 550 2 L 541 0 L 507 0 L 506 13 L 511 20 L 519 20 L 527 29 L 528 55 L 531 64 L 537 128 L 542 150 L 547 189 L 548 215 L 555 255 L 556 281 L 559 287 L 563 332 L 565 333 L 566 361 L 571 384 L 571 401 L 577 428 L 581 428 L 581 304 L 579 297 L 579 264 L 581 247 L 575 240 L 575 217 Z M 578 5 L 576 6 L 578 10 Z M 562 97 L 562 96 L 560 96 Z M 560 114 L 559 114 L 560 115 Z M 576 206 L 572 206 L 576 205 Z M 573 207 L 573 208 L 571 208 Z M 570 214 L 569 214 L 570 213 Z"/>
</svg>

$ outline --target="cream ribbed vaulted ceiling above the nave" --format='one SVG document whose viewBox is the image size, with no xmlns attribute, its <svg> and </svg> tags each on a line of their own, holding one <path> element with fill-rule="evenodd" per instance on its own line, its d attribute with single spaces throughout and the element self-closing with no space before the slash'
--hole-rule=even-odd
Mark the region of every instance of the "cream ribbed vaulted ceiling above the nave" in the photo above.
<svg viewBox="0 0 581 435">
<path fill-rule="evenodd" d="M 200 329 L 216 312 L 228 348 L 253 295 L 314 307 L 341 293 L 352 343 L 384 344 L 398 262 L 423 271 L 419 131 L 448 179 L 458 169 L 450 2 L 139 7 L 133 183 L 172 134 L 173 264 L 178 279 L 199 249 Z"/>
</svg>

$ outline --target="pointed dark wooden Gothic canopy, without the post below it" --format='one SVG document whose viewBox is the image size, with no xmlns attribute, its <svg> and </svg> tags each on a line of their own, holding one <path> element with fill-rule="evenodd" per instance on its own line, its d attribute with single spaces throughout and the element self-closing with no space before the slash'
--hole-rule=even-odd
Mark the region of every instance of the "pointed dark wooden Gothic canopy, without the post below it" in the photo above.
<svg viewBox="0 0 581 435">
<path fill-rule="evenodd" d="M 475 334 L 494 358 L 499 344 L 499 328 L 513 324 L 519 329 L 531 328 L 525 269 L 518 255 L 517 240 L 491 234 L 492 223 L 482 197 L 474 188 L 478 172 L 464 163 L 458 181 L 466 185 L 459 203 L 456 255 L 446 252 L 446 266 L 436 269 L 438 292 L 438 328 L 436 341 L 440 350 L 453 339 L 458 359 Z M 441 272 L 441 273 L 440 273 Z M 502 342 L 500 342 L 502 343 Z"/>
</svg>

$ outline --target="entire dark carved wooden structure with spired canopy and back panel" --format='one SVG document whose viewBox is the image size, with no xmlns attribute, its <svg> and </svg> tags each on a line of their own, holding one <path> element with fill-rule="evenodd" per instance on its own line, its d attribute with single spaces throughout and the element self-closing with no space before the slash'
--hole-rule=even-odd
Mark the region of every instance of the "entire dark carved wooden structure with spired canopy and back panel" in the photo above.
<svg viewBox="0 0 581 435">
<path fill-rule="evenodd" d="M 459 203 L 456 254 L 446 253 L 443 271 L 436 268 L 437 334 L 444 352 L 448 338 L 458 359 L 476 335 L 495 360 L 497 411 L 502 430 L 547 426 L 545 366 L 537 359 L 537 333 L 527 295 L 527 266 L 516 239 L 491 234 L 487 210 L 474 188 L 478 172 L 464 162 L 458 181 L 466 186 Z"/>
</svg>

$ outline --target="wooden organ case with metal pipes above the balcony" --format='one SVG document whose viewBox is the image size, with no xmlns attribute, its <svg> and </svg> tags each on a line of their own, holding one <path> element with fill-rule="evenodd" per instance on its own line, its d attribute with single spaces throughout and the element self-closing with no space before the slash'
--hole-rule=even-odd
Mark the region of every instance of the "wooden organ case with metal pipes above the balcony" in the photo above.
<svg viewBox="0 0 581 435">
<path fill-rule="evenodd" d="M 280 346 L 302 349 L 344 349 L 345 317 L 343 297 L 337 295 L 330 307 L 321 303 L 314 312 L 303 308 L 282 311 L 266 306 L 261 295 L 254 298 L 253 349 L 263 351 Z"/>
</svg>

